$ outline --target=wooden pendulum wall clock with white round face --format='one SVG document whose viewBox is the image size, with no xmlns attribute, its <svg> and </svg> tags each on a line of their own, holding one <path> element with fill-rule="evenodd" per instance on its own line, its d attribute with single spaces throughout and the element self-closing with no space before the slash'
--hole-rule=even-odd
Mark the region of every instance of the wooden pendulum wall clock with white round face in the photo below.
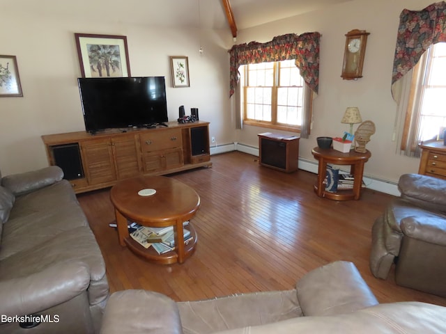
<svg viewBox="0 0 446 334">
<path fill-rule="evenodd" d="M 364 64 L 365 46 L 367 45 L 365 30 L 353 29 L 346 33 L 346 47 L 344 62 L 342 63 L 342 79 L 353 80 L 362 78 L 362 65 Z"/>
</svg>

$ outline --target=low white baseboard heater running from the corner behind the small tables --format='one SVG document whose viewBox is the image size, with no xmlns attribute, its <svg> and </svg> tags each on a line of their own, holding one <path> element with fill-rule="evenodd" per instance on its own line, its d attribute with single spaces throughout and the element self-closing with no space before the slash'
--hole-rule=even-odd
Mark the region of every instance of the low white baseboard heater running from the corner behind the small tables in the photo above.
<svg viewBox="0 0 446 334">
<path fill-rule="evenodd" d="M 216 145 L 210 148 L 210 154 L 219 154 L 231 151 L 240 151 L 247 154 L 252 154 L 256 157 L 259 157 L 259 148 L 254 148 L 253 146 L 241 144 L 241 143 L 232 143 L 226 145 Z M 318 164 L 316 161 L 309 161 L 307 159 L 299 159 L 299 169 L 306 170 L 307 172 L 317 174 L 318 173 Z M 393 196 L 401 196 L 401 193 L 398 190 L 397 183 L 390 182 L 387 180 L 380 180 L 376 177 L 370 177 L 364 175 L 363 177 L 364 183 L 367 188 L 373 189 L 376 191 L 380 191 L 381 193 L 388 193 Z"/>
</svg>

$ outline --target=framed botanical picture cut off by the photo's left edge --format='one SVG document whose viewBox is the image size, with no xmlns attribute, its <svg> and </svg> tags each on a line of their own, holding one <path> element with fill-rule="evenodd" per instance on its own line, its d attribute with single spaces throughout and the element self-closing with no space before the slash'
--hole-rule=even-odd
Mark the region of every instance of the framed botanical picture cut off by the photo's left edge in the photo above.
<svg viewBox="0 0 446 334">
<path fill-rule="evenodd" d="M 0 97 L 23 96 L 15 56 L 0 56 Z"/>
</svg>

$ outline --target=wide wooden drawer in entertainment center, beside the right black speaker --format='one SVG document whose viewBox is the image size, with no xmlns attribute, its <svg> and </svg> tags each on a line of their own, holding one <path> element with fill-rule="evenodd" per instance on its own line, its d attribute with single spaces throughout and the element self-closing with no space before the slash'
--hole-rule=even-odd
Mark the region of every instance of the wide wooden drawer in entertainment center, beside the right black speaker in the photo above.
<svg viewBox="0 0 446 334">
<path fill-rule="evenodd" d="M 183 145 L 180 129 L 163 129 L 163 131 L 141 134 L 140 140 L 142 152 L 180 148 Z"/>
</svg>

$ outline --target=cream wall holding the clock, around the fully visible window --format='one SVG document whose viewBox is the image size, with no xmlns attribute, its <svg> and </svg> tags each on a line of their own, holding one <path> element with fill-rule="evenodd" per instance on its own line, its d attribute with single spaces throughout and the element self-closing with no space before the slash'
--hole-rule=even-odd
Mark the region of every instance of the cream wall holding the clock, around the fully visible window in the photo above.
<svg viewBox="0 0 446 334">
<path fill-rule="evenodd" d="M 266 42 L 285 33 L 318 31 L 322 34 L 314 125 L 309 138 L 300 140 L 300 157 L 315 161 L 311 151 L 316 146 L 316 137 L 339 136 L 348 131 L 349 125 L 341 124 L 341 118 L 347 106 L 357 106 L 362 120 L 372 120 L 376 125 L 376 133 L 367 144 L 372 157 L 365 165 L 364 175 L 396 182 L 403 173 L 417 173 L 420 160 L 397 154 L 397 141 L 392 141 L 397 104 L 392 100 L 390 84 L 401 10 L 421 10 L 433 2 L 355 0 L 239 32 L 237 43 Z M 352 29 L 370 33 L 363 77 L 357 81 L 340 77 L 345 34 Z M 258 147 L 256 134 L 266 131 L 269 130 L 245 127 L 237 132 L 236 141 Z"/>
</svg>

